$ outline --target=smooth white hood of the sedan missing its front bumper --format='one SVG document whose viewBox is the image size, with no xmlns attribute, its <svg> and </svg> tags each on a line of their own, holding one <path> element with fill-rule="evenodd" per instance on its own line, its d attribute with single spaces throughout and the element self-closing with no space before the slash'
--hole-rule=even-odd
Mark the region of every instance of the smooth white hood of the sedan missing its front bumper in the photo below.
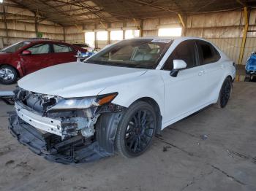
<svg viewBox="0 0 256 191">
<path fill-rule="evenodd" d="M 145 72 L 146 69 L 72 62 L 29 74 L 18 81 L 18 86 L 34 93 L 63 98 L 86 97 L 98 95 L 106 87 L 116 83 L 134 80 Z"/>
</svg>

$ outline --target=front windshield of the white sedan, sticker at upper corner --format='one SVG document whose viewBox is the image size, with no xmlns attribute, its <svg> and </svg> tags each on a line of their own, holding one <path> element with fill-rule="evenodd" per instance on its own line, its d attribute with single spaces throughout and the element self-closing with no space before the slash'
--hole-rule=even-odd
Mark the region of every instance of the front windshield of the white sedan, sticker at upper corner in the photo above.
<svg viewBox="0 0 256 191">
<path fill-rule="evenodd" d="M 168 47 L 170 47 L 171 42 L 171 40 L 166 39 L 124 40 L 106 47 L 85 62 L 109 66 L 155 69 Z"/>
</svg>

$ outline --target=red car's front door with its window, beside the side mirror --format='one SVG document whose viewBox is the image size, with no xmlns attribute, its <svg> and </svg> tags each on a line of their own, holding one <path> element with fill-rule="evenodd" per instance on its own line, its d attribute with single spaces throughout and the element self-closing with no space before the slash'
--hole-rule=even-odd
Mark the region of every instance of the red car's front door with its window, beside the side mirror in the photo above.
<svg viewBox="0 0 256 191">
<path fill-rule="evenodd" d="M 29 74 L 49 66 L 51 54 L 50 44 L 33 44 L 26 50 L 31 51 L 31 55 L 22 55 L 22 53 L 20 53 L 20 63 L 25 70 L 25 74 Z"/>
</svg>

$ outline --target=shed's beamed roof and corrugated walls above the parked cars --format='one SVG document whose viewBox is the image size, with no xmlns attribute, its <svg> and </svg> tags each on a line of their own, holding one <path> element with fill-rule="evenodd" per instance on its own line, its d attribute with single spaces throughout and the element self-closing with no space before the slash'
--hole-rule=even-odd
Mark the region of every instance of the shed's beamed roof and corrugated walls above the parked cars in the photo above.
<svg viewBox="0 0 256 191">
<path fill-rule="evenodd" d="M 42 34 L 102 48 L 126 38 L 128 30 L 139 30 L 137 36 L 157 36 L 161 28 L 182 28 L 183 36 L 209 39 L 244 65 L 255 49 L 255 7 L 253 0 L 6 0 L 1 4 L 1 46 Z M 111 38 L 111 31 L 123 34 Z M 86 39 L 90 32 L 94 39 Z"/>
</svg>

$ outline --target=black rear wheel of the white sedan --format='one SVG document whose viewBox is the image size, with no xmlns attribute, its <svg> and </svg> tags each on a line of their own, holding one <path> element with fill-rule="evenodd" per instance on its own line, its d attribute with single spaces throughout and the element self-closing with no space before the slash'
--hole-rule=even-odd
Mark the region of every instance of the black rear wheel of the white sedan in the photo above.
<svg viewBox="0 0 256 191">
<path fill-rule="evenodd" d="M 232 81 L 230 77 L 227 77 L 222 84 L 222 88 L 219 92 L 219 98 L 216 106 L 218 108 L 224 108 L 225 106 L 227 106 L 227 102 L 230 99 L 231 93 L 232 93 Z"/>
</svg>

